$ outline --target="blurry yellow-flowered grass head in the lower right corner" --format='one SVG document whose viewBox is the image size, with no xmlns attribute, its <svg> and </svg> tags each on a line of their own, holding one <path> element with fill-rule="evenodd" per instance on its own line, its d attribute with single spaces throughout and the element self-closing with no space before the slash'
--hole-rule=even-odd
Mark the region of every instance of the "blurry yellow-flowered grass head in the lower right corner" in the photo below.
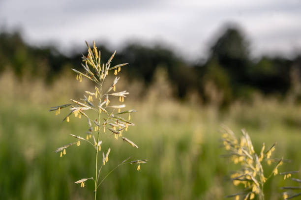
<svg viewBox="0 0 301 200">
<path fill-rule="evenodd" d="M 283 175 L 284 179 L 291 177 L 293 173 L 298 171 L 287 171 L 278 173 L 278 168 L 285 161 L 283 158 L 271 158 L 272 152 L 275 150 L 274 143 L 266 150 L 263 143 L 260 153 L 257 154 L 254 150 L 250 136 L 245 130 L 242 130 L 240 139 L 228 128 L 224 129 L 222 141 L 225 149 L 228 151 L 227 157 L 235 164 L 241 165 L 241 168 L 231 174 L 231 181 L 235 186 L 242 184 L 244 190 L 240 193 L 226 196 L 235 200 L 253 200 L 258 196 L 259 200 L 264 200 L 264 185 L 267 180 L 275 175 Z M 267 173 L 268 169 L 263 167 L 263 162 L 267 162 L 268 166 L 273 164 L 273 169 Z M 286 193 L 283 193 L 283 198 L 286 199 Z"/>
</svg>

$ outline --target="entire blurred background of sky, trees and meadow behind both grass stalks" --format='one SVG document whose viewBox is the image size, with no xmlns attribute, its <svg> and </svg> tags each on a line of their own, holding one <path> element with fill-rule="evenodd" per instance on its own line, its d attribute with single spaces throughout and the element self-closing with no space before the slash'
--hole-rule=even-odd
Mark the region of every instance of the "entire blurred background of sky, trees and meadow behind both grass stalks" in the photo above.
<svg viewBox="0 0 301 200">
<path fill-rule="evenodd" d="M 61 122 L 50 107 L 79 99 L 93 88 L 81 70 L 85 40 L 95 40 L 102 60 L 117 50 L 119 89 L 130 92 L 136 124 L 128 138 L 109 134 L 112 148 L 103 174 L 125 158 L 100 187 L 106 200 L 222 200 L 239 190 L 228 174 L 237 169 L 222 155 L 221 127 L 245 128 L 255 150 L 277 142 L 275 158 L 301 169 L 301 3 L 299 0 L 0 1 L 0 199 L 92 199 L 87 123 Z M 269 172 L 269 171 L 268 171 Z M 267 173 L 268 173 L 267 172 Z M 300 173 L 294 177 L 300 178 Z M 266 198 L 281 199 L 283 177 L 267 183 Z"/>
</svg>

